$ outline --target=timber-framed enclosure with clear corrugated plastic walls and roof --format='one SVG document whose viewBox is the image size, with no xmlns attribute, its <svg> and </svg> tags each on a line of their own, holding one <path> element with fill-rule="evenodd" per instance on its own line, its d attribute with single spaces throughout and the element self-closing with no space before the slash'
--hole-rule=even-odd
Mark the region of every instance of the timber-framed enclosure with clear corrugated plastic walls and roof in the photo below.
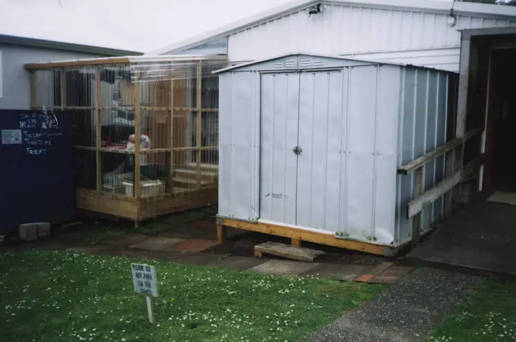
<svg viewBox="0 0 516 342">
<path fill-rule="evenodd" d="M 25 65 L 32 109 L 72 115 L 76 206 L 139 221 L 215 205 L 226 56 Z"/>
</svg>

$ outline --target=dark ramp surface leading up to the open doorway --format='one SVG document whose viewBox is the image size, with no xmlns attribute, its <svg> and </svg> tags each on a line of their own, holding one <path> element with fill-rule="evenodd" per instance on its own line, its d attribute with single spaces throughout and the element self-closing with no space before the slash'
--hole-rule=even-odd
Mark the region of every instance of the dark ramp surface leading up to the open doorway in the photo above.
<svg viewBox="0 0 516 342">
<path fill-rule="evenodd" d="M 516 205 L 475 201 L 407 255 L 414 262 L 516 275 Z"/>
</svg>

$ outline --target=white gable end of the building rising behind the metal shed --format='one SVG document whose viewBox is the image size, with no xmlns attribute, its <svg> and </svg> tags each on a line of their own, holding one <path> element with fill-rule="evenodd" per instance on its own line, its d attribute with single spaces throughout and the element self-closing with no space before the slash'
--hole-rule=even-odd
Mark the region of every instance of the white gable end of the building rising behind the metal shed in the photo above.
<svg viewBox="0 0 516 342">
<path fill-rule="evenodd" d="M 324 3 L 312 16 L 307 8 Z M 271 58 L 292 51 L 356 56 L 458 71 L 459 30 L 516 26 L 516 8 L 452 1 L 295 1 L 270 12 L 171 45 L 177 53 L 228 37 L 230 62 Z"/>
</svg>

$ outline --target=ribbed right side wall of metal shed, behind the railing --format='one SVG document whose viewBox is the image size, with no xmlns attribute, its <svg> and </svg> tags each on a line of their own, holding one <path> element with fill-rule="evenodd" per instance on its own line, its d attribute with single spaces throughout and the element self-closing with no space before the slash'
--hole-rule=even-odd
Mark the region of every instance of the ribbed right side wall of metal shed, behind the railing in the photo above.
<svg viewBox="0 0 516 342">
<path fill-rule="evenodd" d="M 449 73 L 428 69 L 405 67 L 405 91 L 402 94 L 403 108 L 400 120 L 400 146 L 402 155 L 398 166 L 430 152 L 444 144 L 447 130 L 447 97 Z M 424 166 L 424 190 L 442 181 L 444 157 Z M 412 220 L 407 220 L 407 204 L 413 198 L 414 174 L 398 176 L 398 243 L 411 238 Z M 424 207 L 422 231 L 442 220 L 442 198 L 433 205 Z"/>
</svg>

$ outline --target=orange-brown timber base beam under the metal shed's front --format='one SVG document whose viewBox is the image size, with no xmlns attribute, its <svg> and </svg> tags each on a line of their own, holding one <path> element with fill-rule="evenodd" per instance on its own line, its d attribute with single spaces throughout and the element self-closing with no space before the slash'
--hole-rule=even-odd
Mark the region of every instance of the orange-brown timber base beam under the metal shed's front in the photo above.
<svg viewBox="0 0 516 342">
<path fill-rule="evenodd" d="M 335 238 L 335 236 L 332 234 L 320 233 L 317 231 L 308 231 L 283 225 L 272 225 L 270 223 L 253 223 L 229 218 L 217 218 L 217 238 L 219 242 L 222 242 L 224 238 L 226 238 L 226 227 L 233 227 L 248 231 L 257 231 L 259 233 L 291 238 L 292 245 L 294 246 L 301 246 L 301 242 L 308 241 L 318 244 L 326 244 L 327 246 L 341 247 L 345 249 L 352 249 L 354 251 L 362 251 L 365 253 L 385 256 L 394 256 L 399 251 L 399 248 L 387 247 L 367 242 L 338 239 Z"/>
</svg>

